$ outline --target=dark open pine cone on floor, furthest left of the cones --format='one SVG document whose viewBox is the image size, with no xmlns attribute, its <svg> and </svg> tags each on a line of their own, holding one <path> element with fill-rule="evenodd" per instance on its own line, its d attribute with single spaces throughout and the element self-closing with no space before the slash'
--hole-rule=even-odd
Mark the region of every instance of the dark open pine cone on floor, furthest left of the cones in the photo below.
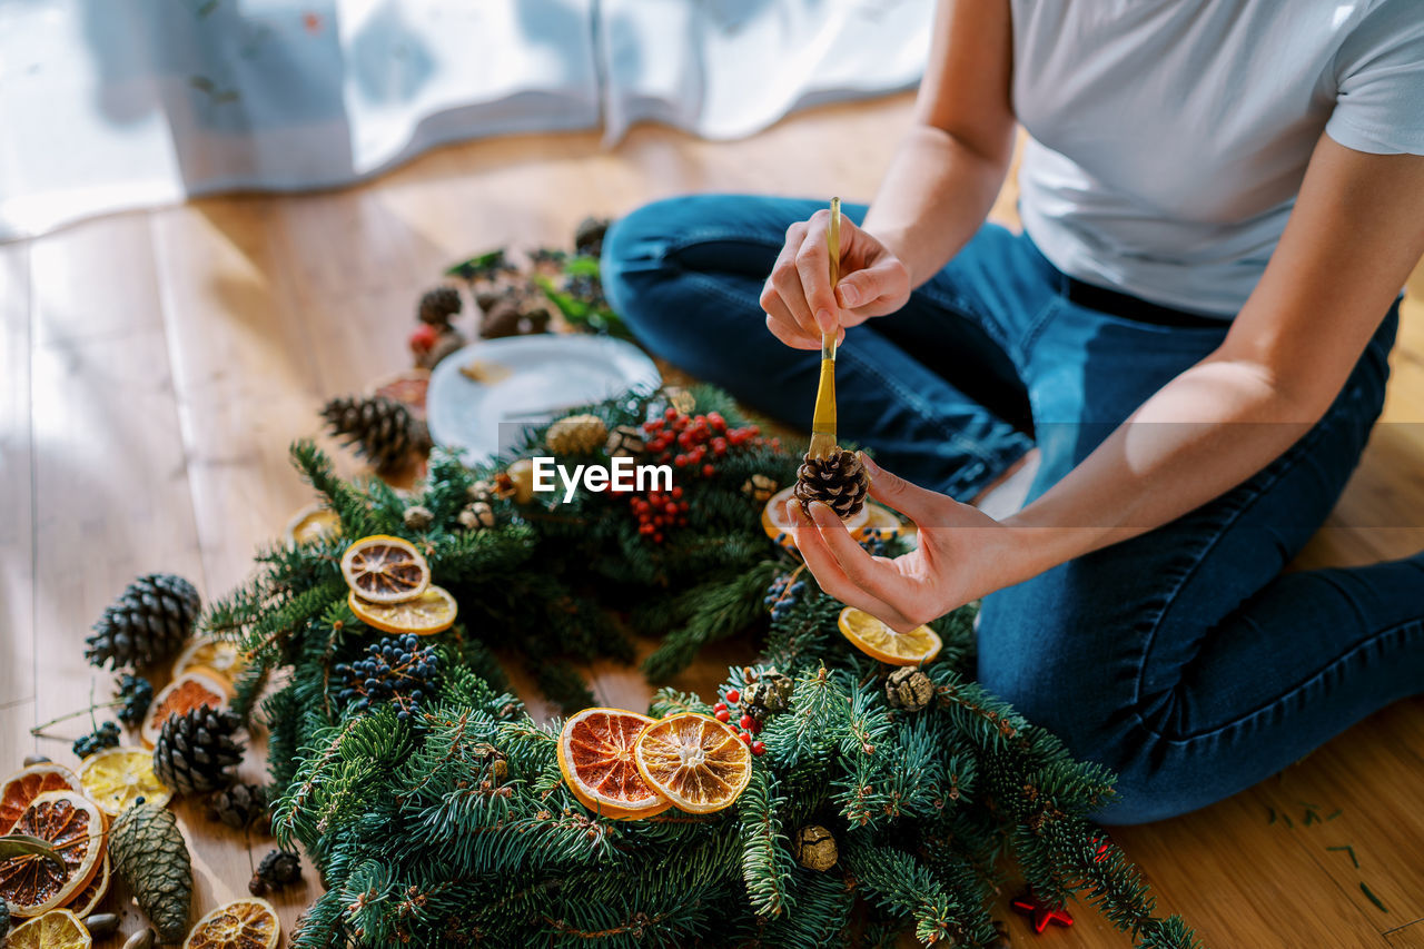
<svg viewBox="0 0 1424 949">
<path fill-rule="evenodd" d="M 90 665 L 152 665 L 182 648 L 198 618 L 198 591 L 182 577 L 151 573 L 134 580 L 88 637 Z"/>
</svg>

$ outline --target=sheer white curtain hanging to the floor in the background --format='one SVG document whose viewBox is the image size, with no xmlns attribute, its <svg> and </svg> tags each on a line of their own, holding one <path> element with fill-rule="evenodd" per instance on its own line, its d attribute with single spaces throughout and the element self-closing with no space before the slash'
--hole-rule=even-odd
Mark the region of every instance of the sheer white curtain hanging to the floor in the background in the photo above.
<svg viewBox="0 0 1424 949">
<path fill-rule="evenodd" d="M 0 0 L 0 241 L 451 140 L 745 135 L 913 84 L 931 0 Z"/>
</svg>

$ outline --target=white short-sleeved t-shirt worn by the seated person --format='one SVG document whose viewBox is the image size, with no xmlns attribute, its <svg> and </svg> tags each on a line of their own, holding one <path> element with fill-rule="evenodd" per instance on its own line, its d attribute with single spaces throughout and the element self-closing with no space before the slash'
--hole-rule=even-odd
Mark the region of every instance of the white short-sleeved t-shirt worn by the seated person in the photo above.
<svg viewBox="0 0 1424 949">
<path fill-rule="evenodd" d="M 1081 281 L 1232 316 L 1321 131 L 1424 154 L 1424 0 L 1011 7 L 1020 214 Z"/>
</svg>

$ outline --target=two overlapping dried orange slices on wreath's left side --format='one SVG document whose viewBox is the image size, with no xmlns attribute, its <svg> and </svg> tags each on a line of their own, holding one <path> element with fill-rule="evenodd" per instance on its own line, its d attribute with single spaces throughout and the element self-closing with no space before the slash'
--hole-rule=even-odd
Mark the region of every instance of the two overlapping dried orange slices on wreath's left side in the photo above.
<svg viewBox="0 0 1424 949">
<path fill-rule="evenodd" d="M 342 556 L 346 603 L 366 626 L 382 633 L 433 636 L 449 630 L 459 604 L 430 583 L 430 564 L 400 537 L 362 537 Z"/>
</svg>

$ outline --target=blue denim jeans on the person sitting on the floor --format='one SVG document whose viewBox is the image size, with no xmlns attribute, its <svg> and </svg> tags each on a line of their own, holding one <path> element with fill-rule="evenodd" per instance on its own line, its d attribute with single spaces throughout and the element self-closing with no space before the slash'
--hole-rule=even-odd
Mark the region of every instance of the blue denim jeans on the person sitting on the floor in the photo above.
<svg viewBox="0 0 1424 949">
<path fill-rule="evenodd" d="M 809 429 L 819 353 L 768 333 L 758 295 L 787 225 L 819 207 L 641 208 L 605 242 L 608 296 L 654 353 Z M 985 225 L 904 309 L 850 331 L 842 439 L 961 500 L 1037 445 L 1037 497 L 1226 335 L 1099 312 L 1065 289 L 1028 238 Z M 1104 822 L 1219 801 L 1424 691 L 1424 553 L 1282 573 L 1358 462 L 1397 325 L 1396 305 L 1324 419 L 1240 487 L 984 600 L 981 683 L 1118 772 Z"/>
</svg>

